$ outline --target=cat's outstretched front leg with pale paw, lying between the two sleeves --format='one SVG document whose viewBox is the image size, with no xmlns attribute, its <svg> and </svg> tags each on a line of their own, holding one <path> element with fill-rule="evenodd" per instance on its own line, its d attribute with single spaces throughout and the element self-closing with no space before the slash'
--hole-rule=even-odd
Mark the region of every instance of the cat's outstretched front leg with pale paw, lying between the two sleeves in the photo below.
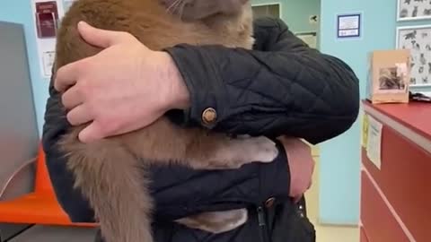
<svg viewBox="0 0 431 242">
<path fill-rule="evenodd" d="M 278 155 L 276 144 L 264 136 L 235 139 L 204 129 L 180 128 L 166 118 L 119 141 L 136 157 L 193 169 L 238 169 L 254 161 L 271 162 Z"/>
</svg>

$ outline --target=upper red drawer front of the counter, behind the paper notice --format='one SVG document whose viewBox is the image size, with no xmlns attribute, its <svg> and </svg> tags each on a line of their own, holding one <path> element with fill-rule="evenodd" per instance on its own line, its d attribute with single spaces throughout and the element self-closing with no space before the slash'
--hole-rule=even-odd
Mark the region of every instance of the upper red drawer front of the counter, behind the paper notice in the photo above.
<svg viewBox="0 0 431 242">
<path fill-rule="evenodd" d="M 382 169 L 362 152 L 363 163 L 400 219 L 418 241 L 429 241 L 431 228 L 431 154 L 383 126 Z M 372 202 L 371 202 L 372 203 Z"/>
</svg>

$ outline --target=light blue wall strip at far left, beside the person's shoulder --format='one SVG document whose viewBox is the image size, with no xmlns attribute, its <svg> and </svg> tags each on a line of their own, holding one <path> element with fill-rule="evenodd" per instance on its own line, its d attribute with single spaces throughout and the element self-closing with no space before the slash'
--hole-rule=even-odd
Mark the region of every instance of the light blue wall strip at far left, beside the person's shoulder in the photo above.
<svg viewBox="0 0 431 242">
<path fill-rule="evenodd" d="M 36 33 L 31 15 L 30 0 L 2 1 L 0 21 L 21 23 L 24 26 L 27 52 L 30 61 L 31 83 L 40 134 L 45 103 L 48 98 L 48 80 L 42 79 L 38 62 Z"/>
</svg>

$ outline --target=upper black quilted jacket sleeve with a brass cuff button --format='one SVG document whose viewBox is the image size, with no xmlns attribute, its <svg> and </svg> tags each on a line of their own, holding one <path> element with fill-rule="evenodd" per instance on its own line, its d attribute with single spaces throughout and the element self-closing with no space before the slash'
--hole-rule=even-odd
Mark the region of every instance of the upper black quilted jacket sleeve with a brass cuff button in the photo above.
<svg viewBox="0 0 431 242">
<path fill-rule="evenodd" d="M 166 49 L 191 99 L 188 110 L 172 110 L 172 120 L 231 134 L 290 135 L 313 144 L 354 123 L 358 80 L 348 65 L 309 48 L 279 20 L 257 21 L 255 36 L 254 50 Z M 202 120 L 207 108 L 216 110 L 212 123 Z"/>
</svg>

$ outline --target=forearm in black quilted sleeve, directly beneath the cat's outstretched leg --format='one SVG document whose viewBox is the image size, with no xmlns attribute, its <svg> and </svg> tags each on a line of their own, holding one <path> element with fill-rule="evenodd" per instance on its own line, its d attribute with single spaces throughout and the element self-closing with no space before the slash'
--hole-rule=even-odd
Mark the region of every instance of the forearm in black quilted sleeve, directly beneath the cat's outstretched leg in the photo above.
<svg viewBox="0 0 431 242">
<path fill-rule="evenodd" d="M 259 206 L 271 197 L 289 198 L 290 173 L 283 150 L 271 163 L 255 162 L 240 169 L 208 171 L 157 166 L 151 174 L 155 217 L 161 220 Z"/>
</svg>

